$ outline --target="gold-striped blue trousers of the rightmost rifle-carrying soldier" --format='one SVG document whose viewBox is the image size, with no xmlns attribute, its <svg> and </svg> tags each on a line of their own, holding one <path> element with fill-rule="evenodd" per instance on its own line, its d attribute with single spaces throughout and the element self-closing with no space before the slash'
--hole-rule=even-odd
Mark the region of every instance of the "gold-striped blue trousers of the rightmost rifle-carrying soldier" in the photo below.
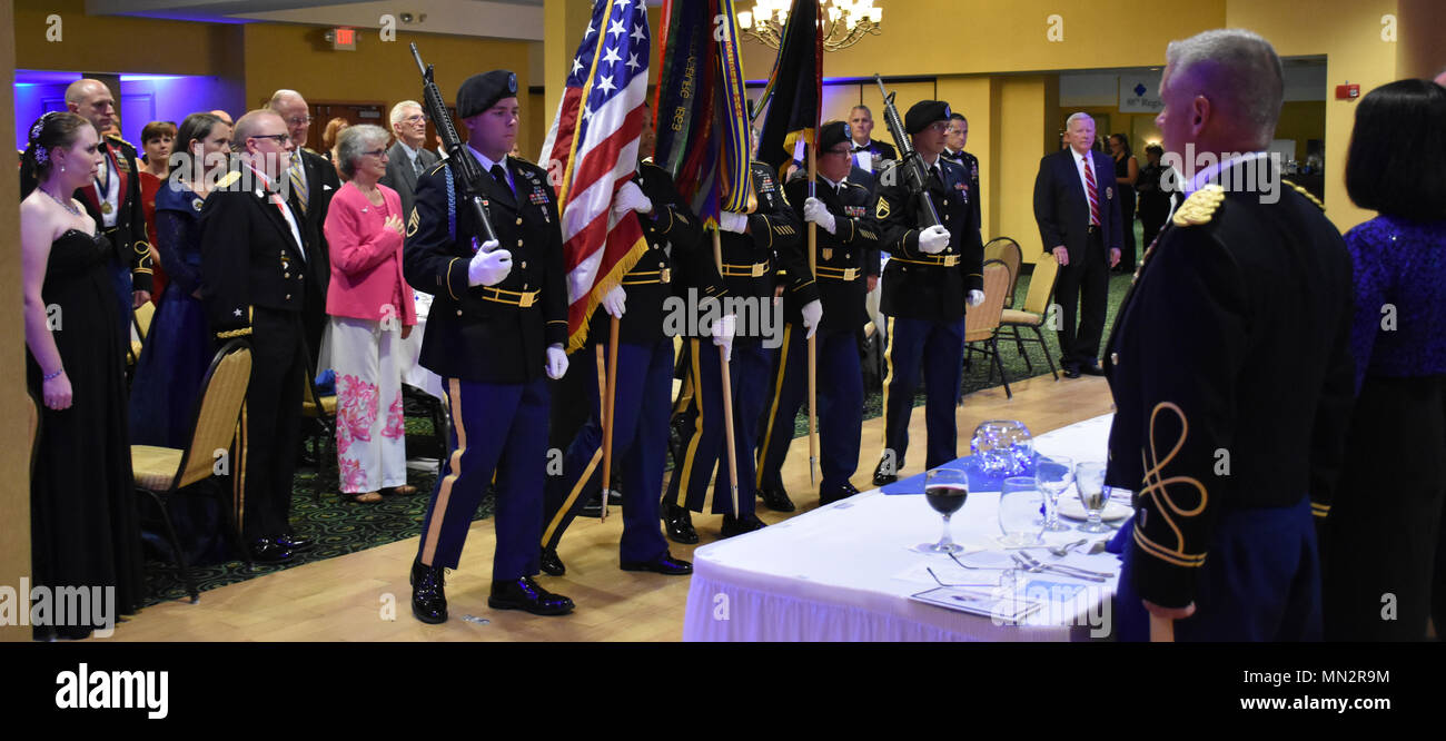
<svg viewBox="0 0 1446 741">
<path fill-rule="evenodd" d="M 954 404 L 964 373 L 964 318 L 936 321 L 889 317 L 889 340 L 884 350 L 884 449 L 894 452 L 895 472 L 904 470 L 908 452 L 908 418 L 914 411 L 914 389 L 920 373 L 928 398 L 924 423 L 928 430 L 924 466 L 936 467 L 959 457 Z"/>
</svg>

